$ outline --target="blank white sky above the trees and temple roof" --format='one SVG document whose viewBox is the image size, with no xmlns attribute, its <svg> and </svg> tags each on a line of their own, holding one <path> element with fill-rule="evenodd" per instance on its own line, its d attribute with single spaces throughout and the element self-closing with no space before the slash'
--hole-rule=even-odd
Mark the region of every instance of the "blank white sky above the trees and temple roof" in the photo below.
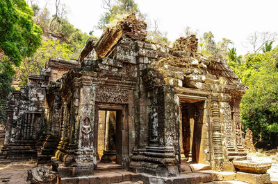
<svg viewBox="0 0 278 184">
<path fill-rule="evenodd" d="M 45 0 L 40 1 L 42 6 Z M 211 31 L 218 42 L 223 37 L 231 39 L 238 53 L 244 54 L 242 46 L 248 35 L 254 31 L 278 32 L 277 0 L 135 0 L 139 9 L 147 13 L 149 19 L 158 19 L 159 30 L 167 32 L 173 42 L 184 33 L 186 26 L 200 33 Z M 102 0 L 63 0 L 70 8 L 67 18 L 83 32 L 95 30 L 104 10 Z M 54 0 L 49 0 L 54 4 Z M 276 43 L 277 44 L 277 43 Z M 276 45 L 275 44 L 275 45 Z"/>
</svg>

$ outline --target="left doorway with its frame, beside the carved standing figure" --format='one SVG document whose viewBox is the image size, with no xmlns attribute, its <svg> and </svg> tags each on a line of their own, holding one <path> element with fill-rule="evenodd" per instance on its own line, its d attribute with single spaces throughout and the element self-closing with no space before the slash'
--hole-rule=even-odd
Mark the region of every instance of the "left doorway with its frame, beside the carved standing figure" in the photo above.
<svg viewBox="0 0 278 184">
<path fill-rule="evenodd" d="M 122 106 L 99 106 L 97 110 L 95 145 L 97 169 L 111 169 L 125 165 L 124 147 L 127 146 L 126 118 Z M 125 139 L 124 139 L 125 138 Z"/>
</svg>

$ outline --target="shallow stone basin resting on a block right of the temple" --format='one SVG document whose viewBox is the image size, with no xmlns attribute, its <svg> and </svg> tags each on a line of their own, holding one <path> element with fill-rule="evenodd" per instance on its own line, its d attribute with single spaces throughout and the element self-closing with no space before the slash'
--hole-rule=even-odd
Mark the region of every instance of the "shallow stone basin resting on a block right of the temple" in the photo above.
<svg viewBox="0 0 278 184">
<path fill-rule="evenodd" d="M 259 160 L 234 160 L 233 164 L 240 172 L 254 174 L 264 174 L 271 167 L 271 162 Z"/>
</svg>

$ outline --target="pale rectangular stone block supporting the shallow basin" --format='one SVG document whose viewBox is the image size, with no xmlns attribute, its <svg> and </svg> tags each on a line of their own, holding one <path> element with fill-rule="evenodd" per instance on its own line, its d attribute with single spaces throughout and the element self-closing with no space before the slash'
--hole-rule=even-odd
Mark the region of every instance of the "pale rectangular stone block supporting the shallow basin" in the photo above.
<svg viewBox="0 0 278 184">
<path fill-rule="evenodd" d="M 270 174 L 251 174 L 246 172 L 237 172 L 236 180 L 251 184 L 271 183 Z"/>
</svg>

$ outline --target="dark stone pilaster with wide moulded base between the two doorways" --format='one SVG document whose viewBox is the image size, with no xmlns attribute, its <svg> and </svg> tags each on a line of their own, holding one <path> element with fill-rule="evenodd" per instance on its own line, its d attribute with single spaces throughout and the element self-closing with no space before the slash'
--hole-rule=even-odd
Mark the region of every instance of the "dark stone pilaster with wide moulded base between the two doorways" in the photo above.
<svg viewBox="0 0 278 184">
<path fill-rule="evenodd" d="M 179 107 L 174 89 L 159 86 L 148 91 L 149 145 L 131 158 L 131 169 L 155 176 L 178 176 Z"/>
</svg>

